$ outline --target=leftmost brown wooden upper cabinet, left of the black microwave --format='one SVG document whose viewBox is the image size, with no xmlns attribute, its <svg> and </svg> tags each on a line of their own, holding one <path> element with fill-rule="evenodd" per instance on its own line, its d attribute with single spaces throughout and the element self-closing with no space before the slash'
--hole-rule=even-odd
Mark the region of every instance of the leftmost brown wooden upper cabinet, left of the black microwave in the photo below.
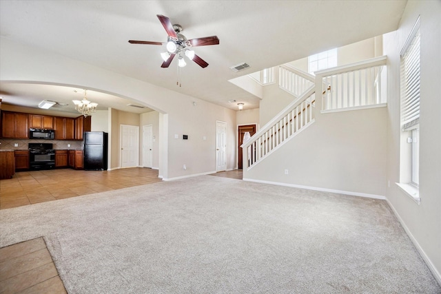
<svg viewBox="0 0 441 294">
<path fill-rule="evenodd" d="M 29 115 L 21 112 L 1 112 L 1 136 L 3 138 L 28 139 Z"/>
</svg>

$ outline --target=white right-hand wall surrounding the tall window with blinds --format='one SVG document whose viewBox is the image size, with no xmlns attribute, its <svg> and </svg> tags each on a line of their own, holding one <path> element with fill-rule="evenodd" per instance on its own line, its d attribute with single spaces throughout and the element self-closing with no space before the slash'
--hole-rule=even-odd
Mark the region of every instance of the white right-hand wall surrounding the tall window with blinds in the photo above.
<svg viewBox="0 0 441 294">
<path fill-rule="evenodd" d="M 420 15 L 420 198 L 417 204 L 394 183 L 400 179 L 400 51 Z M 388 58 L 387 200 L 441 284 L 441 1 L 408 1 L 396 32 L 384 35 Z"/>
</svg>

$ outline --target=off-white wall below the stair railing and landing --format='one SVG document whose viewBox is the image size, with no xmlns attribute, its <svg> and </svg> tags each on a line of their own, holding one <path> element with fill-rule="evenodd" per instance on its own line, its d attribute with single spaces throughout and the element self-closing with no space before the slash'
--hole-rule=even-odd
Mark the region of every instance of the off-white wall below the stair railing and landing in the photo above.
<svg viewBox="0 0 441 294">
<path fill-rule="evenodd" d="M 249 171 L 244 169 L 243 178 L 384 197 L 386 116 L 385 107 L 316 112 L 316 123 Z"/>
</svg>

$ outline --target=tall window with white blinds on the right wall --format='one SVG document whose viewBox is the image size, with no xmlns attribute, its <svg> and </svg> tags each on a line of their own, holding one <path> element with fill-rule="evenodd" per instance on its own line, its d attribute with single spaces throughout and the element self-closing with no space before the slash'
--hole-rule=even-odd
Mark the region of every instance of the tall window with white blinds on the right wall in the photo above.
<svg viewBox="0 0 441 294">
<path fill-rule="evenodd" d="M 420 18 L 401 56 L 400 187 L 419 200 L 420 184 Z"/>
</svg>

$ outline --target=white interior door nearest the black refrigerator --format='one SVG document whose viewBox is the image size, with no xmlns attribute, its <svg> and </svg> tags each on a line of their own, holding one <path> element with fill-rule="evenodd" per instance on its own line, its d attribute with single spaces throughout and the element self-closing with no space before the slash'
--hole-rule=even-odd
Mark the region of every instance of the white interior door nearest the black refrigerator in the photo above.
<svg viewBox="0 0 441 294">
<path fill-rule="evenodd" d="M 139 127 L 121 125 L 121 167 L 139 165 Z"/>
</svg>

